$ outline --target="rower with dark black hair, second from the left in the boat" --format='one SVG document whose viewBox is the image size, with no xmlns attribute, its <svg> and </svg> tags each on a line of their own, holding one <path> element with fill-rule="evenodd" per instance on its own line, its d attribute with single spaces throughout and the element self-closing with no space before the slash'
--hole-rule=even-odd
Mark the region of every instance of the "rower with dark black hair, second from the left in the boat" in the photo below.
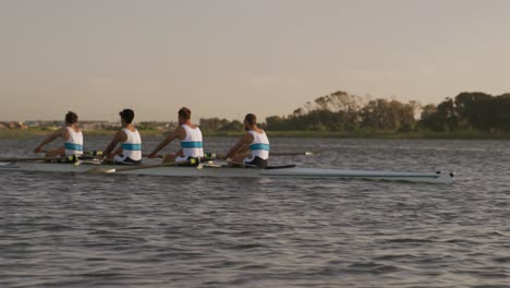
<svg viewBox="0 0 510 288">
<path fill-rule="evenodd" d="M 142 164 L 142 137 L 133 124 L 134 111 L 124 109 L 119 112 L 119 116 L 122 129 L 117 132 L 102 155 L 114 164 Z M 119 143 L 120 147 L 113 152 Z"/>
</svg>

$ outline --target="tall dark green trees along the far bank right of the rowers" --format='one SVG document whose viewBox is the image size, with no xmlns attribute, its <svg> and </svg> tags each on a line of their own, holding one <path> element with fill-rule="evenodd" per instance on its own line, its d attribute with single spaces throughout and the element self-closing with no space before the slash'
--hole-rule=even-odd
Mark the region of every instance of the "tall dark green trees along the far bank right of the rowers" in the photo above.
<svg viewBox="0 0 510 288">
<path fill-rule="evenodd" d="M 292 115 L 268 117 L 266 125 L 274 131 L 510 132 L 510 94 L 461 93 L 437 106 L 421 106 L 336 92 Z"/>
</svg>

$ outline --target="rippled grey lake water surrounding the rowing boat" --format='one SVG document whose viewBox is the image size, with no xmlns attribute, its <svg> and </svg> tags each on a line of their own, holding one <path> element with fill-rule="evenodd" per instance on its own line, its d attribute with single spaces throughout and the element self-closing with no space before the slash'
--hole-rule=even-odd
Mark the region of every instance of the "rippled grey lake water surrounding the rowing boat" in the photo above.
<svg viewBox="0 0 510 288">
<path fill-rule="evenodd" d="M 32 156 L 40 141 L 0 140 L 0 156 Z M 109 137 L 86 141 L 104 149 Z M 445 185 L 3 171 L 0 287 L 510 287 L 510 142 L 271 148 L 323 152 L 274 165 L 457 176 Z"/>
</svg>

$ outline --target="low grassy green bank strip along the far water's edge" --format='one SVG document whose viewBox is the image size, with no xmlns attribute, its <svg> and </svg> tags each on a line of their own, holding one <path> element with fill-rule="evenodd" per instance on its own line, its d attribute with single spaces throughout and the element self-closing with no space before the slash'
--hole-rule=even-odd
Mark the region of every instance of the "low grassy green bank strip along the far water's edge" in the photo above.
<svg viewBox="0 0 510 288">
<path fill-rule="evenodd" d="M 141 130 L 142 136 L 163 136 L 169 131 Z M 44 137 L 52 133 L 51 130 L 0 130 L 0 139 L 33 139 Z M 85 136 L 112 136 L 116 131 L 94 130 L 84 131 Z M 235 137 L 243 132 L 204 132 L 205 137 Z M 510 140 L 508 134 L 482 132 L 343 132 L 343 131 L 267 131 L 270 137 L 331 137 L 331 139 L 393 139 L 393 140 Z"/>
</svg>

